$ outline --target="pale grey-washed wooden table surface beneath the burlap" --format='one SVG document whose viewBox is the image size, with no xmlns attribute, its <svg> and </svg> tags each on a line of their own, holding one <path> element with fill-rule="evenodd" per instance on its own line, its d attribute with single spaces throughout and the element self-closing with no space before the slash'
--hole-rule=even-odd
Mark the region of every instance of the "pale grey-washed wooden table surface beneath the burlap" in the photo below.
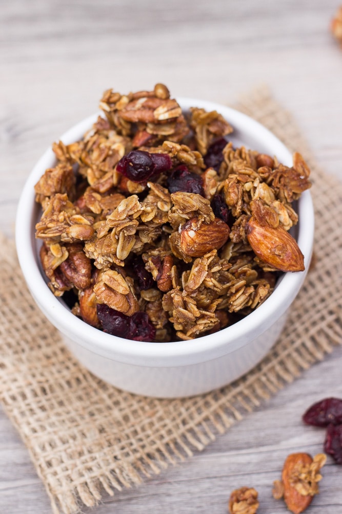
<svg viewBox="0 0 342 514">
<path fill-rule="evenodd" d="M 109 87 L 166 83 L 174 96 L 234 102 L 265 83 L 295 116 L 319 165 L 342 179 L 342 49 L 329 33 L 333 0 L 11 0 L 0 10 L 0 230 L 13 237 L 19 193 L 34 162 L 93 113 Z M 320 452 L 324 431 L 301 414 L 342 397 L 342 347 L 205 451 L 144 485 L 105 497 L 96 514 L 225 513 L 239 486 L 259 491 L 260 514 L 288 453 Z M 328 461 L 308 512 L 342 511 L 342 467 Z M 0 512 L 47 513 L 23 443 L 0 412 Z"/>
</svg>

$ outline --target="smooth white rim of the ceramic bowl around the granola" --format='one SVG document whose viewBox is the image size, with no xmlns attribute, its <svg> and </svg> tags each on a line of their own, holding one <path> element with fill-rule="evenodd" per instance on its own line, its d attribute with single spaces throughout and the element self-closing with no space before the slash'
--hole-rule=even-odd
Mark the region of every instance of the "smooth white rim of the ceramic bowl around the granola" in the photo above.
<svg viewBox="0 0 342 514">
<path fill-rule="evenodd" d="M 292 155 L 286 146 L 265 126 L 249 116 L 216 102 L 184 97 L 178 97 L 177 101 L 183 110 L 197 106 L 208 111 L 218 111 L 233 126 L 243 127 L 238 130 L 243 130 L 244 133 L 247 131 L 251 137 L 257 134 L 258 139 L 267 141 L 267 145 L 272 146 L 273 155 L 276 155 L 280 162 L 292 166 Z M 92 123 L 101 114 L 103 113 L 95 113 L 76 123 L 59 139 L 67 144 L 76 141 L 91 128 Z M 34 200 L 34 185 L 45 170 L 53 166 L 53 161 L 55 161 L 54 153 L 51 148 L 48 148 L 29 174 L 19 198 L 15 222 L 17 255 L 31 295 L 45 316 L 66 337 L 77 341 L 94 354 L 133 365 L 167 366 L 168 368 L 215 359 L 234 352 L 247 344 L 250 339 L 255 339 L 265 332 L 285 313 L 304 282 L 311 260 L 314 235 L 314 213 L 309 190 L 305 191 L 298 200 L 297 243 L 305 256 L 305 270 L 284 273 L 270 297 L 246 318 L 214 334 L 168 343 L 132 341 L 99 331 L 73 315 L 61 300 L 52 294 L 35 258 L 36 241 L 33 228 L 38 206 Z M 305 226 L 303 226 L 304 218 Z"/>
</svg>

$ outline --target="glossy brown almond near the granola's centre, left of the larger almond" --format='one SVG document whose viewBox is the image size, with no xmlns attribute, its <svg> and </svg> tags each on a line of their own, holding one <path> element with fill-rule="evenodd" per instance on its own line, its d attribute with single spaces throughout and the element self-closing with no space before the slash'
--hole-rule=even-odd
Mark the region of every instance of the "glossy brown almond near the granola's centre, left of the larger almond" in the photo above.
<svg viewBox="0 0 342 514">
<path fill-rule="evenodd" d="M 180 248 L 186 255 L 202 257 L 213 249 L 221 248 L 229 233 L 230 228 L 220 218 L 202 224 L 197 218 L 192 218 L 180 230 Z"/>
</svg>

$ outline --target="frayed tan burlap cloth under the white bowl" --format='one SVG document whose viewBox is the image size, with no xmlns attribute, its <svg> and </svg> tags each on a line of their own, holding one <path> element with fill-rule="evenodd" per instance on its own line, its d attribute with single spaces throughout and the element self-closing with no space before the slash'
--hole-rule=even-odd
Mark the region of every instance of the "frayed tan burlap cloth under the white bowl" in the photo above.
<svg viewBox="0 0 342 514">
<path fill-rule="evenodd" d="M 280 339 L 243 378 L 209 394 L 160 400 L 119 391 L 83 369 L 35 306 L 14 245 L 0 237 L 0 398 L 51 499 L 71 514 L 104 491 L 144 481 L 202 450 L 342 341 L 342 184 L 318 171 L 289 113 L 261 88 L 237 105 L 312 169 L 315 260 Z"/>
</svg>

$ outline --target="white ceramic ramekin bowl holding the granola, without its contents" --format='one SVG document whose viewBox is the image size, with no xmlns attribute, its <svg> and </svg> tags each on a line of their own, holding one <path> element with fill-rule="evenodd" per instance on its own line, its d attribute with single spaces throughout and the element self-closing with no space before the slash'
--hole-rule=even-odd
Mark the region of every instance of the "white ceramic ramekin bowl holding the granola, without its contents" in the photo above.
<svg viewBox="0 0 342 514">
<path fill-rule="evenodd" d="M 180 98 L 183 109 L 190 106 L 216 109 L 234 127 L 236 146 L 275 155 L 292 165 L 292 155 L 264 126 L 242 113 L 212 102 Z M 78 123 L 61 139 L 71 143 L 91 127 L 97 114 Z M 245 319 L 212 335 L 170 343 L 138 342 L 105 334 L 71 314 L 63 299 L 53 296 L 39 269 L 34 226 L 40 208 L 34 185 L 47 168 L 53 167 L 51 149 L 38 160 L 29 175 L 16 217 L 16 247 L 27 285 L 38 307 L 63 334 L 77 359 L 92 373 L 132 393 L 179 397 L 205 393 L 225 386 L 249 371 L 262 359 L 283 329 L 286 313 L 306 276 L 313 246 L 314 215 L 311 195 L 305 191 L 298 201 L 299 223 L 295 237 L 305 256 L 305 271 L 288 272 L 278 281 L 272 295 Z"/>
</svg>

